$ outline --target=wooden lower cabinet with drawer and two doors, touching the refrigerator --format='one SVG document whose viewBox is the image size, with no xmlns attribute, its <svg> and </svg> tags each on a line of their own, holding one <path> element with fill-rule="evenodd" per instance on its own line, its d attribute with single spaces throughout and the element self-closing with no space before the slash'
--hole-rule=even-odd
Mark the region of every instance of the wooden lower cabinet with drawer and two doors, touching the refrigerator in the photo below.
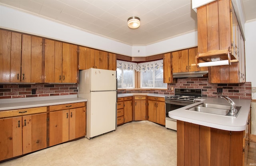
<svg viewBox="0 0 256 166">
<path fill-rule="evenodd" d="M 85 136 L 85 119 L 85 102 L 50 106 L 49 146 Z"/>
</svg>

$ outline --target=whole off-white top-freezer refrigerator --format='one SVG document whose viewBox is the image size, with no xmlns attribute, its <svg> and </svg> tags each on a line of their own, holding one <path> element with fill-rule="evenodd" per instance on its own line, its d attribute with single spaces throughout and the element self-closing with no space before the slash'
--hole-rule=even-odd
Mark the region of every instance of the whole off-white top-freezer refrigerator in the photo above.
<svg viewBox="0 0 256 166">
<path fill-rule="evenodd" d="M 116 130 L 116 71 L 80 70 L 78 95 L 87 99 L 86 138 Z"/>
</svg>

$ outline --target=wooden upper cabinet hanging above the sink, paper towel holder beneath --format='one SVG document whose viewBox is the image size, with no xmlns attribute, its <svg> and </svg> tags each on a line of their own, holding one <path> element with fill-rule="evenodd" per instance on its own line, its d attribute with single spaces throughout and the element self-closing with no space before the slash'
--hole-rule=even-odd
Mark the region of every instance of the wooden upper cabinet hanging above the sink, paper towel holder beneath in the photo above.
<svg viewBox="0 0 256 166">
<path fill-rule="evenodd" d="M 231 0 L 216 0 L 197 8 L 198 52 L 226 50 L 239 62 L 209 67 L 209 83 L 245 82 L 244 40 Z M 226 56 L 227 57 L 227 56 Z"/>
</svg>

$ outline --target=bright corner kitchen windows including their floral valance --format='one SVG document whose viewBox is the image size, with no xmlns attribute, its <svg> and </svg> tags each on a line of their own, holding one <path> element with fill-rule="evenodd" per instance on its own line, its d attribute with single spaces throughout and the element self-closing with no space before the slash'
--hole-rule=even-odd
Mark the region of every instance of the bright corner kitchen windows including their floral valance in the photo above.
<svg viewBox="0 0 256 166">
<path fill-rule="evenodd" d="M 144 63 L 126 62 L 117 60 L 118 88 L 167 88 L 163 83 L 163 60 Z M 135 87 L 135 77 L 138 79 Z"/>
</svg>

